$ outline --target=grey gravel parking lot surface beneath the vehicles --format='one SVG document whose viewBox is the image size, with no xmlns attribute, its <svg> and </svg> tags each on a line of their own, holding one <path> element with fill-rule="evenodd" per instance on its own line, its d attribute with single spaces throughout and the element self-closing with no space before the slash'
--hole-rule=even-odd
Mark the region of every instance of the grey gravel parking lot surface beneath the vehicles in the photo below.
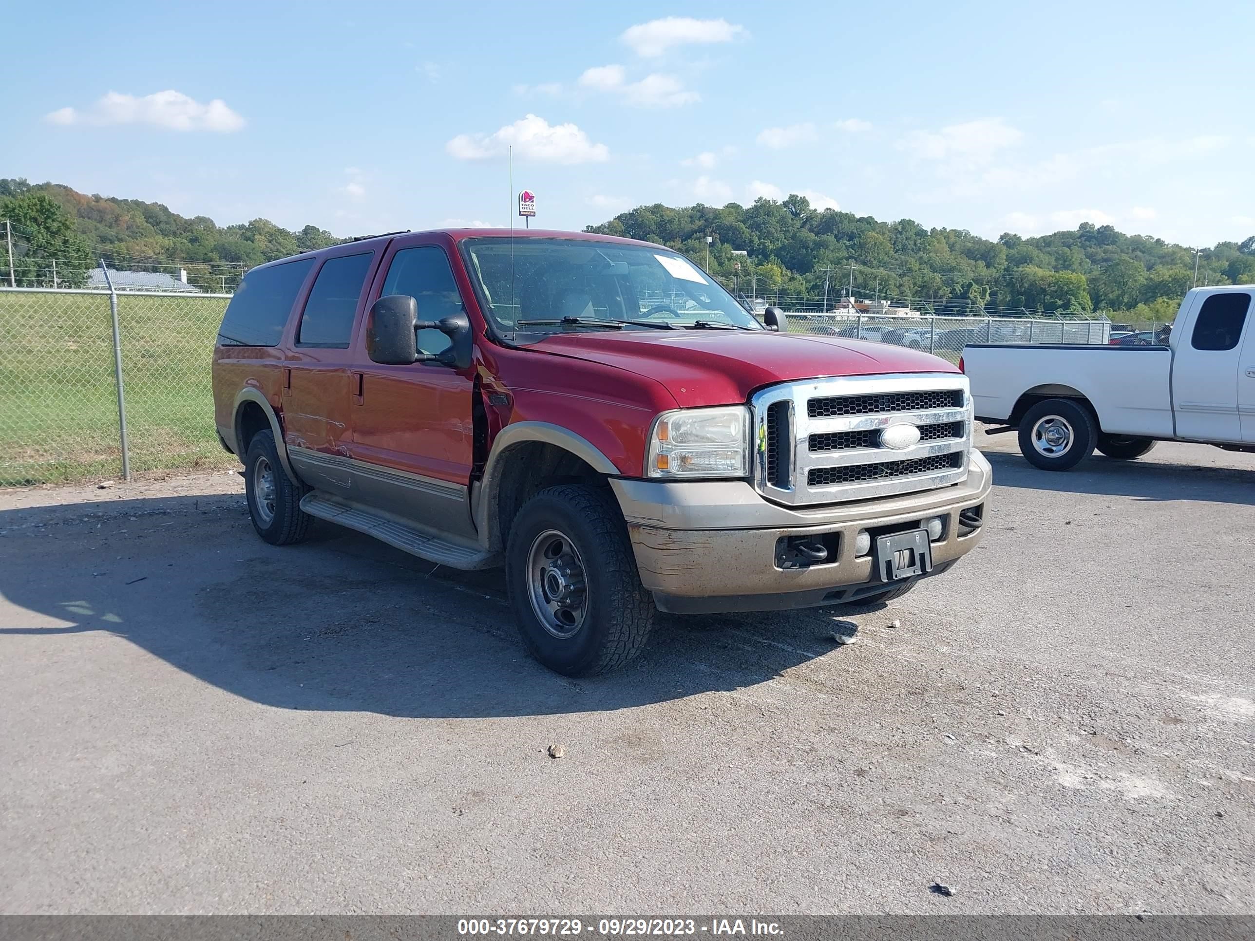
<svg viewBox="0 0 1255 941">
<path fill-rule="evenodd" d="M 1255 455 L 979 443 L 985 542 L 857 644 L 666 617 L 581 681 L 235 476 L 0 493 L 0 911 L 1255 911 Z"/>
</svg>

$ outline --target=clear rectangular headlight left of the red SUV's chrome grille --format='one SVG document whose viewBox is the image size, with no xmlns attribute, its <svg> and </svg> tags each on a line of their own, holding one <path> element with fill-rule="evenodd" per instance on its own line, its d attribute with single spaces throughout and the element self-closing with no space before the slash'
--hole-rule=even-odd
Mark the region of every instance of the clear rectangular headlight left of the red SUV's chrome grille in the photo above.
<svg viewBox="0 0 1255 941">
<path fill-rule="evenodd" d="M 646 477 L 748 477 L 749 409 L 664 412 L 654 419 Z"/>
</svg>

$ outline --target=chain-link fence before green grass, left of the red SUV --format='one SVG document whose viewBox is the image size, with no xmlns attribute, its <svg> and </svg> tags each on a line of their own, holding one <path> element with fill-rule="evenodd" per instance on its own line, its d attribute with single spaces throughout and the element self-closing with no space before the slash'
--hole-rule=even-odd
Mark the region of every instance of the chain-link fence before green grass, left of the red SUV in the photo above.
<svg viewBox="0 0 1255 941">
<path fill-rule="evenodd" d="M 228 467 L 210 360 L 230 295 L 115 296 L 132 472 Z M 109 292 L 0 289 L 0 486 L 120 473 Z"/>
</svg>

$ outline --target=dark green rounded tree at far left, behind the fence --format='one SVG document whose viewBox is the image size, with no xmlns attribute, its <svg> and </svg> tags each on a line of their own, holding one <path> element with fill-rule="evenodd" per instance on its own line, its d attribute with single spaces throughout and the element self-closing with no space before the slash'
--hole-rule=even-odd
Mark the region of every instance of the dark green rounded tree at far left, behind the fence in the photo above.
<svg viewBox="0 0 1255 941">
<path fill-rule="evenodd" d="M 74 231 L 74 220 L 55 199 L 31 189 L 5 197 L 0 199 L 0 220 L 8 220 L 13 228 L 13 274 L 18 285 L 51 285 L 54 262 L 58 284 L 79 287 L 87 281 L 92 252 Z"/>
</svg>

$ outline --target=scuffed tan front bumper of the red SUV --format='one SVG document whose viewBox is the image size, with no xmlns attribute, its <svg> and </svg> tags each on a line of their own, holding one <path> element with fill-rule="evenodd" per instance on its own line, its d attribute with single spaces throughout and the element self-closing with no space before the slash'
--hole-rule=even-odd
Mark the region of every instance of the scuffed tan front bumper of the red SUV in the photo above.
<svg viewBox="0 0 1255 941">
<path fill-rule="evenodd" d="M 855 556 L 860 529 L 946 518 L 931 543 L 939 575 L 980 542 L 984 526 L 959 534 L 959 513 L 988 504 L 989 462 L 971 452 L 968 478 L 950 487 L 820 508 L 782 507 L 743 481 L 653 482 L 614 479 L 641 582 L 663 611 L 712 614 L 771 611 L 857 601 L 900 582 L 876 581 L 871 556 Z M 986 507 L 988 508 L 988 507 Z M 988 521 L 988 512 L 985 513 Z M 781 568 L 777 541 L 837 533 L 836 560 Z"/>
</svg>

